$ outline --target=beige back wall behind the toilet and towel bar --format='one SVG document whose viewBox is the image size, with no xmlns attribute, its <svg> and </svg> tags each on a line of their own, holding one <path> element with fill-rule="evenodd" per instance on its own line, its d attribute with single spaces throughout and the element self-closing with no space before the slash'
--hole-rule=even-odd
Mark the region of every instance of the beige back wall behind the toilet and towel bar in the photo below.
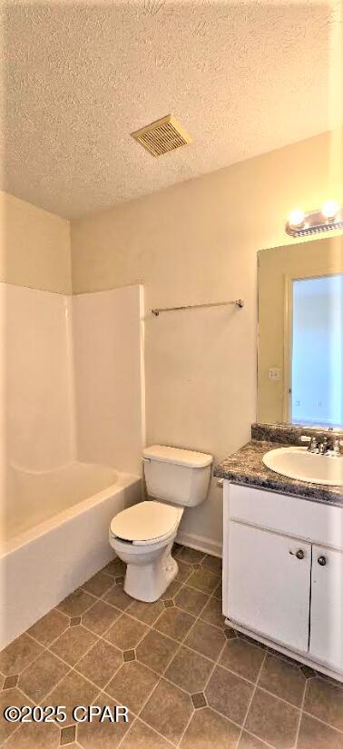
<svg viewBox="0 0 343 749">
<path fill-rule="evenodd" d="M 341 133 L 183 182 L 72 222 L 73 291 L 141 282 L 146 310 L 148 443 L 223 458 L 256 416 L 256 253 L 288 244 L 289 211 L 340 198 Z M 168 156 L 166 158 L 169 158 Z M 244 297 L 152 317 L 153 307 Z M 221 493 L 185 513 L 186 533 L 220 543 Z"/>
</svg>

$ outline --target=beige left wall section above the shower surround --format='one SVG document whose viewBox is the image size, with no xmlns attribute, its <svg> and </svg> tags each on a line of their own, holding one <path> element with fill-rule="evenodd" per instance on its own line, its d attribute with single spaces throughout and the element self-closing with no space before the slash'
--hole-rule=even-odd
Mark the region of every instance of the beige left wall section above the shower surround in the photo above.
<svg viewBox="0 0 343 749">
<path fill-rule="evenodd" d="M 0 281 L 71 293 L 70 223 L 0 192 Z"/>
</svg>

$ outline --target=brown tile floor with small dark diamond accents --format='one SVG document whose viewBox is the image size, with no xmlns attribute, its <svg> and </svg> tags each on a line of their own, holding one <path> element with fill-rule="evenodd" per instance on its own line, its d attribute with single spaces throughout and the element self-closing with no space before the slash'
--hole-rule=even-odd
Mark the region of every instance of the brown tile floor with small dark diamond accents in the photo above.
<svg viewBox="0 0 343 749">
<path fill-rule="evenodd" d="M 5 705 L 66 705 L 56 724 L 0 726 L 6 749 L 343 749 L 343 685 L 225 627 L 220 560 L 175 546 L 155 604 L 114 559 L 0 654 Z M 127 705 L 129 723 L 75 726 L 74 705 Z"/>
</svg>

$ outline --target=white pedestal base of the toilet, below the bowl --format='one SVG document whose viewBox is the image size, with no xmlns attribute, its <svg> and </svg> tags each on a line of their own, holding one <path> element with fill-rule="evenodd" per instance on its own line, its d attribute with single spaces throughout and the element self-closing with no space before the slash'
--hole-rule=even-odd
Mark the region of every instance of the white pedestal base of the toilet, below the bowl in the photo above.
<svg viewBox="0 0 343 749">
<path fill-rule="evenodd" d="M 162 559 L 159 556 L 148 564 L 127 565 L 123 589 L 128 596 L 146 603 L 161 598 L 179 571 L 177 562 L 171 557 L 171 547 L 172 542 L 165 549 Z"/>
</svg>

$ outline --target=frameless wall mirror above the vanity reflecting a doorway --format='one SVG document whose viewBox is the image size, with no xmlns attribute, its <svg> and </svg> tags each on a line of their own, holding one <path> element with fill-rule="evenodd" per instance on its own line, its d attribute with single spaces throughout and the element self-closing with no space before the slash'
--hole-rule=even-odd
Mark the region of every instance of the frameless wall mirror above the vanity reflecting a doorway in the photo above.
<svg viewBox="0 0 343 749">
<path fill-rule="evenodd" d="M 343 428 L 343 236 L 258 253 L 262 423 Z"/>
</svg>

